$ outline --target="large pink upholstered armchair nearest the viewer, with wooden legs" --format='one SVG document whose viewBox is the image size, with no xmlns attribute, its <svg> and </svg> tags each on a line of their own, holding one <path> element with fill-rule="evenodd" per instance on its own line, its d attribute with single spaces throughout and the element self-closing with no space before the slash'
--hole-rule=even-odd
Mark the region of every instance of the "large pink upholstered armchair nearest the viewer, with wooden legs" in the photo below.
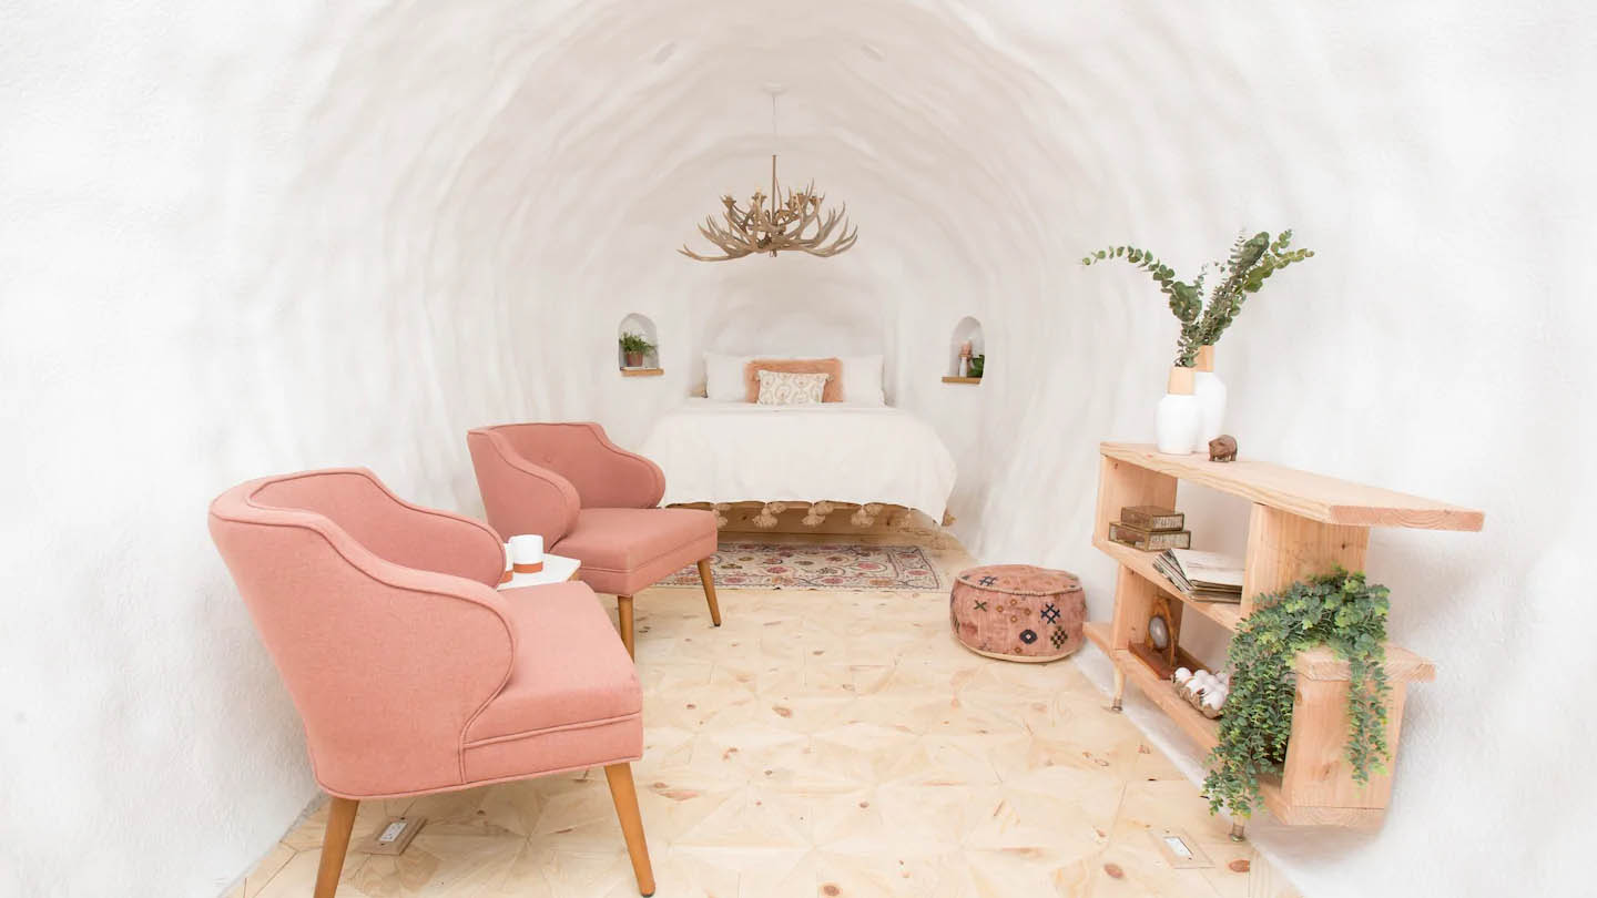
<svg viewBox="0 0 1597 898">
<path fill-rule="evenodd" d="M 209 524 L 332 796 L 316 898 L 339 887 L 364 799 L 597 765 L 653 893 L 631 772 L 637 671 L 586 585 L 497 591 L 498 534 L 363 468 L 235 486 Z"/>
</svg>

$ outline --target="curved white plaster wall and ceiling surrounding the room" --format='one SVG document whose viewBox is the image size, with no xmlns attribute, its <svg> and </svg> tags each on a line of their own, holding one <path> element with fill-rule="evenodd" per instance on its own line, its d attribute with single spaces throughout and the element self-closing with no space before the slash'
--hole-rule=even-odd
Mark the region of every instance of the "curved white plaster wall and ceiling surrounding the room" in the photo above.
<svg viewBox="0 0 1597 898">
<path fill-rule="evenodd" d="M 1102 617 L 1094 446 L 1150 435 L 1172 328 L 1147 278 L 1075 260 L 1137 241 L 1188 272 L 1244 225 L 1319 257 L 1222 344 L 1242 452 L 1488 511 L 1375 535 L 1396 639 L 1442 668 L 1383 832 L 1255 839 L 1316 898 L 1568 888 L 1597 793 L 1559 687 L 1597 660 L 1565 623 L 1594 27 L 1573 2 L 5 6 L 0 893 L 214 895 L 313 799 L 214 492 L 366 463 L 473 511 L 466 427 L 636 443 L 703 348 L 883 352 L 957 451 L 958 534 L 1081 570 Z M 792 85 L 784 179 L 848 201 L 853 252 L 672 252 L 763 182 L 751 72 Z M 664 377 L 615 372 L 632 312 Z M 937 380 L 965 315 L 981 388 Z M 1195 511 L 1239 538 L 1231 503 Z"/>
</svg>

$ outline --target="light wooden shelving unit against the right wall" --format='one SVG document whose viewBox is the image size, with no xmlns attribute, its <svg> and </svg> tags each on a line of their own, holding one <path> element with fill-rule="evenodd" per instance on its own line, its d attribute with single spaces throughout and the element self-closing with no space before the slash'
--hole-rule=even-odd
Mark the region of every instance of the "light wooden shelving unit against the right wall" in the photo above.
<svg viewBox="0 0 1597 898">
<path fill-rule="evenodd" d="M 1252 612 L 1254 599 L 1335 566 L 1364 569 L 1370 527 L 1479 530 L 1480 511 L 1295 471 L 1266 462 L 1211 462 L 1204 455 L 1164 455 L 1153 446 L 1104 443 L 1097 523 L 1092 545 L 1119 564 L 1115 615 L 1086 625 L 1086 636 L 1115 665 L 1115 706 L 1126 682 L 1148 697 L 1207 754 L 1220 738 L 1220 724 L 1182 701 L 1175 687 L 1131 652 L 1145 639 L 1148 610 L 1156 596 L 1171 596 L 1177 617 L 1203 615 L 1234 633 Z M 1247 527 L 1242 602 L 1201 602 L 1175 591 L 1153 567 L 1155 553 L 1108 540 L 1108 526 L 1127 505 L 1175 508 L 1179 481 L 1196 483 L 1254 502 Z M 1279 781 L 1260 791 L 1270 812 L 1287 824 L 1378 826 L 1391 801 L 1391 775 L 1372 773 L 1367 785 L 1353 780 L 1343 757 L 1348 733 L 1348 665 L 1329 649 L 1298 654 L 1294 662 L 1297 693 L 1292 735 Z M 1388 746 L 1396 757 L 1402 706 L 1410 682 L 1436 679 L 1436 666 L 1397 646 L 1386 647 L 1391 682 Z"/>
</svg>

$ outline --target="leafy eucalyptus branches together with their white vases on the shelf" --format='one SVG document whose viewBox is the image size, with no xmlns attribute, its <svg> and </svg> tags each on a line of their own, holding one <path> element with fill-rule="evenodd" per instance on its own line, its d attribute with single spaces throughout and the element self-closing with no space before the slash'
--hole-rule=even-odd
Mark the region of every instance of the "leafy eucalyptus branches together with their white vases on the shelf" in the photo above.
<svg viewBox="0 0 1597 898">
<path fill-rule="evenodd" d="M 1265 280 L 1294 262 L 1314 256 L 1311 249 L 1290 249 L 1292 232 L 1270 238 L 1270 232 L 1238 236 L 1231 254 L 1214 267 L 1225 272 L 1204 299 L 1209 265 L 1191 283 L 1175 280 L 1175 272 L 1135 246 L 1110 246 L 1081 259 L 1083 265 L 1104 259 L 1124 259 L 1148 272 L 1169 297 L 1171 312 L 1182 324 L 1169 388 L 1155 417 L 1159 452 L 1198 452 L 1225 427 L 1225 383 L 1214 374 L 1214 345 L 1242 310 L 1249 294 Z M 1196 415 L 1196 422 L 1193 420 Z"/>
</svg>

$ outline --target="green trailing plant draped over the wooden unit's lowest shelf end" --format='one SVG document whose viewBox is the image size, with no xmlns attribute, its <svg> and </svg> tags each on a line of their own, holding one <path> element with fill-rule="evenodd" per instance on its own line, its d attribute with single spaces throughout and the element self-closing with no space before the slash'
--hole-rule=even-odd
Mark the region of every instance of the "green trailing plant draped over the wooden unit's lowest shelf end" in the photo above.
<svg viewBox="0 0 1597 898">
<path fill-rule="evenodd" d="M 1279 773 L 1292 735 L 1292 658 L 1329 646 L 1348 662 L 1348 764 L 1367 783 L 1385 772 L 1388 590 L 1364 574 L 1335 574 L 1262 596 L 1231 638 L 1231 692 L 1220 716 L 1220 745 L 1204 780 L 1209 812 L 1247 818 L 1262 805 L 1258 777 Z"/>
</svg>

